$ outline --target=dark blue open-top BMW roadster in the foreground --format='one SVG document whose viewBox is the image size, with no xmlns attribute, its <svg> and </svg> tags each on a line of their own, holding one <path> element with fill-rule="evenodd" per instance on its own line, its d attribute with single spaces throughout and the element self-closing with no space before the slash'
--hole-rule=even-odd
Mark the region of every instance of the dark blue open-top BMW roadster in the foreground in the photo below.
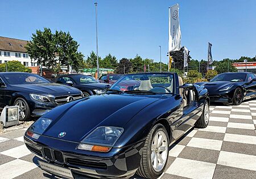
<svg viewBox="0 0 256 179">
<path fill-rule="evenodd" d="M 129 79 L 141 83 L 119 90 Z M 104 95 L 51 110 L 28 128 L 24 141 L 44 160 L 40 168 L 57 176 L 128 178 L 137 172 L 158 178 L 169 146 L 208 122 L 204 86 L 183 84 L 176 73 L 129 74 Z"/>
</svg>

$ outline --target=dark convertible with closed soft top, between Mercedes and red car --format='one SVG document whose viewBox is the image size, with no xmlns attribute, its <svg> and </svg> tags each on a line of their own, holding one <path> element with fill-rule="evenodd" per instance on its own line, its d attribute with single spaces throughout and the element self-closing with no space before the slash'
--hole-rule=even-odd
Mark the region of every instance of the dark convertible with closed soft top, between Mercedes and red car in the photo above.
<svg viewBox="0 0 256 179">
<path fill-rule="evenodd" d="M 55 82 L 78 88 L 85 97 L 105 93 L 106 89 L 110 87 L 109 84 L 99 83 L 91 76 L 82 74 L 61 75 L 55 79 Z"/>
</svg>

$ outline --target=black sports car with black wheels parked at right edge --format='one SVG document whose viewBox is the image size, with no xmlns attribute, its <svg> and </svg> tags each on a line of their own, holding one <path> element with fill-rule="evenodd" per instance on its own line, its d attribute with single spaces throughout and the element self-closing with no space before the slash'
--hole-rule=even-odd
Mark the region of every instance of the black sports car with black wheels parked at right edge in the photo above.
<svg viewBox="0 0 256 179">
<path fill-rule="evenodd" d="M 243 100 L 256 97 L 256 79 L 253 73 L 222 73 L 210 82 L 196 84 L 208 89 L 213 102 L 240 105 Z"/>
</svg>

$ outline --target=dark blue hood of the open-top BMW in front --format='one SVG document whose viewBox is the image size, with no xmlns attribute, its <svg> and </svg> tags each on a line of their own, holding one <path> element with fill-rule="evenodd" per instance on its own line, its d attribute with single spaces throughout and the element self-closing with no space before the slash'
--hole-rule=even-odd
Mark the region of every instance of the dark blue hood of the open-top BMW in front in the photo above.
<svg viewBox="0 0 256 179">
<path fill-rule="evenodd" d="M 86 134 L 98 126 L 123 127 L 147 105 L 159 100 L 159 96 L 105 94 L 90 96 L 52 109 L 44 117 L 53 122 L 43 135 L 81 142 Z"/>
</svg>

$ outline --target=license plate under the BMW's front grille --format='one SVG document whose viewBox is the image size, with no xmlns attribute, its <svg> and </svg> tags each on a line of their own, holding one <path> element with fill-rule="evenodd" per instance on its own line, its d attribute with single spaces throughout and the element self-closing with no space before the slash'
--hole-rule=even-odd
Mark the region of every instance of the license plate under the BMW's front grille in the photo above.
<svg viewBox="0 0 256 179">
<path fill-rule="evenodd" d="M 70 169 L 48 164 L 43 161 L 38 161 L 38 163 L 40 168 L 42 168 L 44 171 L 59 175 L 61 177 L 73 178 L 73 174 Z"/>
</svg>

